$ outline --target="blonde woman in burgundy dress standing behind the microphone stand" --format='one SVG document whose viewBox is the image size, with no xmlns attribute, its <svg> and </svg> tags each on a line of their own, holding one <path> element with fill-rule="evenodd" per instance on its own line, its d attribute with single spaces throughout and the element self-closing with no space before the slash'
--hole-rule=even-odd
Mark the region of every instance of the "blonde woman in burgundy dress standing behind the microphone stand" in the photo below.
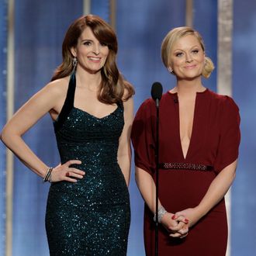
<svg viewBox="0 0 256 256">
<path fill-rule="evenodd" d="M 240 116 L 228 96 L 202 85 L 213 62 L 202 37 L 189 27 L 165 36 L 161 57 L 177 78 L 159 106 L 159 256 L 224 256 L 224 195 L 234 181 Z M 144 198 L 144 243 L 154 255 L 156 107 L 147 99 L 133 122 L 136 179 Z"/>
</svg>

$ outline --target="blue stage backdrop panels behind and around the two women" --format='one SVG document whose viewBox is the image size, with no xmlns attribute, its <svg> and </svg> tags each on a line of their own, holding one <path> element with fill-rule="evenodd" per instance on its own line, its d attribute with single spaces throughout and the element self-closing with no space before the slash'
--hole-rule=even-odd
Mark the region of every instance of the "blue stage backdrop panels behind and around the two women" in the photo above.
<svg viewBox="0 0 256 256">
<path fill-rule="evenodd" d="M 2 1 L 2 2 L 1 2 Z M 0 26 L 6 28 L 6 1 L 0 1 Z M 193 1 L 194 26 L 204 37 L 206 55 L 216 64 L 217 3 L 216 0 Z M 2 8 L 3 7 L 3 8 Z M 109 19 L 109 2 L 93 0 L 92 13 Z M 61 62 L 61 43 L 67 26 L 83 13 L 83 1 L 16 0 L 14 12 L 15 36 L 15 109 L 19 109 L 35 92 L 50 81 L 54 68 Z M 234 0 L 234 99 L 240 106 L 242 144 L 237 179 L 232 193 L 232 256 L 256 254 L 256 221 L 254 195 L 256 186 L 256 152 L 254 127 L 256 64 L 254 36 L 256 3 L 254 0 Z M 185 25 L 185 0 L 119 0 L 116 1 L 116 33 L 119 40 L 120 71 L 134 85 L 135 111 L 150 97 L 150 87 L 160 81 L 164 91 L 175 86 L 174 77 L 161 63 L 161 40 L 175 26 Z M 5 70 L 6 33 L 1 30 L 0 67 Z M 11 31 L 9 31 L 11 33 Z M 0 129 L 5 122 L 5 73 L 1 76 Z M 204 85 L 216 91 L 216 71 Z M 54 129 L 49 116 L 24 136 L 27 144 L 49 165 L 59 162 Z M 0 254 L 4 247 L 5 150 L 0 146 Z M 44 230 L 44 215 L 49 185 L 43 184 L 17 159 L 14 165 L 13 256 L 48 255 Z M 143 256 L 143 202 L 134 182 L 134 167 L 130 183 L 132 223 L 128 255 Z"/>
</svg>

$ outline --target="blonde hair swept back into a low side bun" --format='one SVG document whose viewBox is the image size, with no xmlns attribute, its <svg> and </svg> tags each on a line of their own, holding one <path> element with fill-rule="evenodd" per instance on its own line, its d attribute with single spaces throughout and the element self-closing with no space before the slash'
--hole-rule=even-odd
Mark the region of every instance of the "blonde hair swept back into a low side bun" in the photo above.
<svg viewBox="0 0 256 256">
<path fill-rule="evenodd" d="M 199 40 L 202 50 L 205 52 L 202 36 L 195 29 L 192 29 L 189 26 L 180 26 L 175 29 L 171 29 L 171 31 L 169 31 L 169 33 L 164 37 L 164 40 L 161 44 L 161 58 L 165 67 L 170 67 L 170 53 L 174 43 L 183 36 L 189 35 L 193 35 Z M 205 65 L 202 69 L 202 76 L 204 78 L 209 78 L 213 69 L 213 61 L 209 57 L 205 57 Z"/>
</svg>

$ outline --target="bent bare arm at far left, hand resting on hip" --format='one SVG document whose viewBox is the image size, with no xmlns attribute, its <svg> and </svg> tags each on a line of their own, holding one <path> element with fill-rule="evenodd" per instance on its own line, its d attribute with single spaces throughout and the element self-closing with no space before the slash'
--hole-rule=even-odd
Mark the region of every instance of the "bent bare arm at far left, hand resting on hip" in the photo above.
<svg viewBox="0 0 256 256">
<path fill-rule="evenodd" d="M 59 86 L 55 85 L 55 82 L 48 84 L 40 90 L 40 92 L 37 92 L 36 95 L 33 95 L 33 97 L 16 112 L 12 119 L 6 123 L 1 133 L 1 140 L 6 147 L 9 147 L 9 149 L 16 154 L 16 157 L 18 157 L 23 164 L 41 177 L 43 177 L 47 172 L 47 164 L 44 164 L 43 161 L 33 153 L 25 141 L 22 140 L 22 135 L 47 112 L 57 109 L 56 102 L 59 102 L 61 96 L 63 98 L 62 94 L 63 88 L 60 89 Z M 69 164 L 74 163 L 68 163 L 66 168 L 68 168 Z M 74 171 L 74 168 L 71 169 Z M 60 167 L 58 167 L 57 170 L 60 170 Z M 55 170 L 53 173 L 54 172 Z M 62 175 L 64 175 L 64 171 L 62 172 Z M 59 172 L 59 174 L 61 173 Z M 56 178 L 56 181 L 61 179 L 68 179 L 72 182 L 71 178 L 68 177 L 58 177 Z"/>
</svg>

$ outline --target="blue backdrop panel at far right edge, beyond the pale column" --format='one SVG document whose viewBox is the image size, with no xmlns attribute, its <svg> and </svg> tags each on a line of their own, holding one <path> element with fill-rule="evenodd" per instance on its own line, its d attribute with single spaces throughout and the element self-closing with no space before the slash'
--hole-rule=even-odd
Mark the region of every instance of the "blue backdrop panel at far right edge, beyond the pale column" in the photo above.
<svg viewBox="0 0 256 256">
<path fill-rule="evenodd" d="M 232 189 L 231 255 L 256 255 L 256 1 L 234 0 L 233 95 L 242 141 Z"/>
</svg>

